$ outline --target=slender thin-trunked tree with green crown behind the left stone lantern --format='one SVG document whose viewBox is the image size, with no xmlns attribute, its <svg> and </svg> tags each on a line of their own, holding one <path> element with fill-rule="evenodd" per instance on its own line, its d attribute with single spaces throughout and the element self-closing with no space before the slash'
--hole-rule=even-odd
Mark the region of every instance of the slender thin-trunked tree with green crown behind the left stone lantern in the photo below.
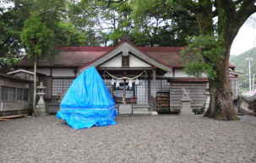
<svg viewBox="0 0 256 163">
<path fill-rule="evenodd" d="M 57 53 L 57 46 L 80 46 L 84 43 L 84 35 L 72 23 L 65 21 L 65 0 L 36 0 L 25 21 L 21 32 L 21 41 L 25 46 L 26 56 L 34 59 L 34 99 L 35 116 L 36 99 L 36 63 L 40 58 L 49 58 L 52 62 Z"/>
</svg>

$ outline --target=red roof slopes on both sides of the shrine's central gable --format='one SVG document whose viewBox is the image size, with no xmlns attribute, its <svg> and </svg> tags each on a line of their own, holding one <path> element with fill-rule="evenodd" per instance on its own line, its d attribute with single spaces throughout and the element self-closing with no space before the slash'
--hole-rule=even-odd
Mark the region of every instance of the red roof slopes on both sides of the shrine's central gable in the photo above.
<svg viewBox="0 0 256 163">
<path fill-rule="evenodd" d="M 120 42 L 117 46 L 121 45 Z M 133 44 L 131 44 L 134 46 Z M 111 52 L 117 46 L 68 46 L 59 47 L 60 53 L 54 57 L 52 67 L 86 67 L 91 62 Z M 135 46 L 136 47 L 136 46 Z M 136 47 L 139 51 L 170 68 L 182 68 L 182 58 L 179 53 L 183 47 Z M 18 67 L 32 67 L 33 62 L 23 59 Z M 51 67 L 49 61 L 40 61 L 39 67 Z M 230 68 L 235 68 L 230 65 Z"/>
</svg>

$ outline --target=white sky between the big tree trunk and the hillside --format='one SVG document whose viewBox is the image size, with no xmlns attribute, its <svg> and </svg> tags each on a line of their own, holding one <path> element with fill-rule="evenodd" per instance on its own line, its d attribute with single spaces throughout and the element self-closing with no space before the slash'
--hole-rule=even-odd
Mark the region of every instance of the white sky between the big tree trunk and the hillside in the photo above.
<svg viewBox="0 0 256 163">
<path fill-rule="evenodd" d="M 252 17 L 256 17 L 253 14 Z M 249 49 L 256 47 L 256 21 L 243 24 L 231 46 L 231 55 L 239 55 Z"/>
</svg>

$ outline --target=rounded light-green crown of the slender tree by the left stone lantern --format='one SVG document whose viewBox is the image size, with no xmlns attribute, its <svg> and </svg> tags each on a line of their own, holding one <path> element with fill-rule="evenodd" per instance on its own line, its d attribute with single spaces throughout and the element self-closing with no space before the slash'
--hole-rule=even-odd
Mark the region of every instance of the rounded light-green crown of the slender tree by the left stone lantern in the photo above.
<svg viewBox="0 0 256 163">
<path fill-rule="evenodd" d="M 47 28 L 38 15 L 32 15 L 25 21 L 24 30 L 21 33 L 22 43 L 28 57 L 41 57 L 54 49 L 54 32 Z"/>
</svg>

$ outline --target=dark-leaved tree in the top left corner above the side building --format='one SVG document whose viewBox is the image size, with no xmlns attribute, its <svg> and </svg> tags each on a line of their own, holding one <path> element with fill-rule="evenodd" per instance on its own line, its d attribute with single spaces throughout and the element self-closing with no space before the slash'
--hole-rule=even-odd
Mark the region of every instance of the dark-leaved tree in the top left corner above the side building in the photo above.
<svg viewBox="0 0 256 163">
<path fill-rule="evenodd" d="M 7 5 L 12 2 L 0 1 L 0 67 L 3 68 L 9 68 L 24 55 L 19 35 L 31 4 L 28 0 L 19 0 L 14 7 Z"/>
</svg>

